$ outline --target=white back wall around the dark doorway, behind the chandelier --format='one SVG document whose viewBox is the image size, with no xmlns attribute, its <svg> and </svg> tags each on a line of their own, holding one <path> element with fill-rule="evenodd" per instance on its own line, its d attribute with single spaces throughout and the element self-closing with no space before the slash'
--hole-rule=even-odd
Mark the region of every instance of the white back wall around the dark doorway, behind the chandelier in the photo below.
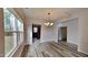
<svg viewBox="0 0 88 65">
<path fill-rule="evenodd" d="M 29 26 L 28 26 L 28 41 L 30 44 L 32 44 L 32 24 L 40 24 L 41 25 L 41 35 L 40 35 L 40 42 L 47 42 L 47 41 L 57 41 L 57 35 L 56 35 L 56 26 L 50 26 L 47 28 L 45 26 L 45 21 L 43 20 L 30 20 L 29 21 Z"/>
</svg>

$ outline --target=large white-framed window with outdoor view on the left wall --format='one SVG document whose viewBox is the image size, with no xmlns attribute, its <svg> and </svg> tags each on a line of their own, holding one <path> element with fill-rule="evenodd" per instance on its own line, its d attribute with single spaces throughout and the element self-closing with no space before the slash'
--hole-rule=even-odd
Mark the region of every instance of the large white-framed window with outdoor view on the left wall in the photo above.
<svg viewBox="0 0 88 65">
<path fill-rule="evenodd" d="M 10 55 L 23 41 L 23 23 L 8 9 L 4 9 L 4 53 Z"/>
</svg>

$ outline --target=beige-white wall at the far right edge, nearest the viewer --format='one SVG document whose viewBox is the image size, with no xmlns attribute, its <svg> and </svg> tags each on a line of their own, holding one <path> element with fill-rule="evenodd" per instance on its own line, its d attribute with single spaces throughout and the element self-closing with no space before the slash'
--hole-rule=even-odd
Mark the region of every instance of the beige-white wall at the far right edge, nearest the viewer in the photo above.
<svg viewBox="0 0 88 65">
<path fill-rule="evenodd" d="M 79 45 L 78 51 L 88 54 L 88 9 L 84 9 L 72 18 L 79 18 Z"/>
</svg>

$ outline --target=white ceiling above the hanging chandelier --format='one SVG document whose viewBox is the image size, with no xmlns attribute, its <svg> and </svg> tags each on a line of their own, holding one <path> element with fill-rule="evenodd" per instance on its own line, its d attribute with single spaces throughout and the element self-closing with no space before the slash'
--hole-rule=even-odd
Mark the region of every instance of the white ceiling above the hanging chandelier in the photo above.
<svg viewBox="0 0 88 65">
<path fill-rule="evenodd" d="M 79 8 L 22 8 L 25 15 L 29 19 L 48 19 L 47 13 L 50 12 L 50 19 L 58 20 L 70 17 L 71 13 L 79 11 Z"/>
</svg>

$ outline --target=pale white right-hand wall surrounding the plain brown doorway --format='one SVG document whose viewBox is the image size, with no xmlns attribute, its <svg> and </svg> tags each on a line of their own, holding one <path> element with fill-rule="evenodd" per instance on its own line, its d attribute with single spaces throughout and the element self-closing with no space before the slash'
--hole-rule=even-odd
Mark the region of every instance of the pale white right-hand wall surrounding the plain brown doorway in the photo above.
<svg viewBox="0 0 88 65">
<path fill-rule="evenodd" d="M 60 32 L 61 26 L 67 26 L 67 42 L 78 45 L 78 43 L 79 43 L 78 19 L 75 18 L 75 19 L 59 23 L 58 24 L 58 29 L 59 29 L 58 32 Z M 61 35 L 59 35 L 59 40 L 61 40 Z"/>
</svg>

